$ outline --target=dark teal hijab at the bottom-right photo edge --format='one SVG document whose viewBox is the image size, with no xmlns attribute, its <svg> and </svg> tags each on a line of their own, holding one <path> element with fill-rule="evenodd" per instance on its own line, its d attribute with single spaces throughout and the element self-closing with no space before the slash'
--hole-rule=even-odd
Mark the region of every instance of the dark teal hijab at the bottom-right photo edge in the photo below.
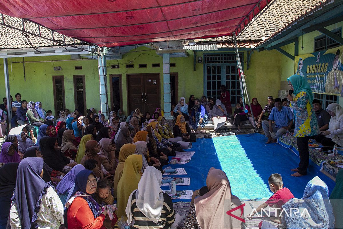
<svg viewBox="0 0 343 229">
<path fill-rule="evenodd" d="M 335 228 L 343 228 L 343 169 L 336 175 L 336 185 L 330 195 L 330 202 L 335 216 Z"/>
</svg>

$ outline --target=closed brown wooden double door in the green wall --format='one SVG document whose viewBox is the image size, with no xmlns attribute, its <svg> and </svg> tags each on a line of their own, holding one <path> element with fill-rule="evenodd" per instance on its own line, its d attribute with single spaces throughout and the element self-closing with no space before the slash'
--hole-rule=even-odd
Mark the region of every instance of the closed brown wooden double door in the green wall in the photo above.
<svg viewBox="0 0 343 229">
<path fill-rule="evenodd" d="M 128 115 L 135 108 L 144 114 L 154 112 L 159 107 L 159 74 L 128 75 Z"/>
</svg>

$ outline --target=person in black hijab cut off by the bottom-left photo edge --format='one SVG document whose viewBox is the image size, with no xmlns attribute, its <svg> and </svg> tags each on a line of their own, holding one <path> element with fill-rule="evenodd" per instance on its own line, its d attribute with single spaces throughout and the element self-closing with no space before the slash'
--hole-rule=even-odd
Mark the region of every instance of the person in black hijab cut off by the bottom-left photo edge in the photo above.
<svg viewBox="0 0 343 229">
<path fill-rule="evenodd" d="M 0 168 L 0 228 L 6 228 L 10 215 L 11 197 L 17 178 L 19 163 L 6 163 Z"/>
</svg>

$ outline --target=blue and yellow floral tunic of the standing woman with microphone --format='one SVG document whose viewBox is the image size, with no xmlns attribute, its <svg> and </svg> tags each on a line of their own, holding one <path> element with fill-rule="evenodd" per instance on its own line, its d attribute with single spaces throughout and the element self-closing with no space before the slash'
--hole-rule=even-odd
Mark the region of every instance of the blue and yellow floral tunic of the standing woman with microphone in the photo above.
<svg viewBox="0 0 343 229">
<path fill-rule="evenodd" d="M 291 101 L 291 106 L 294 111 L 294 137 L 320 134 L 317 117 L 306 92 L 299 92 Z"/>
</svg>

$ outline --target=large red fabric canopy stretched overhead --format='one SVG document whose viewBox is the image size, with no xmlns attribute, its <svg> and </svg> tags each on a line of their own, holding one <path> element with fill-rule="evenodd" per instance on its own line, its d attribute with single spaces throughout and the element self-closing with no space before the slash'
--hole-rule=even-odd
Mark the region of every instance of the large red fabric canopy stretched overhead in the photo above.
<svg viewBox="0 0 343 229">
<path fill-rule="evenodd" d="M 271 0 L 11 0 L 0 12 L 114 47 L 238 35 Z"/>
</svg>

